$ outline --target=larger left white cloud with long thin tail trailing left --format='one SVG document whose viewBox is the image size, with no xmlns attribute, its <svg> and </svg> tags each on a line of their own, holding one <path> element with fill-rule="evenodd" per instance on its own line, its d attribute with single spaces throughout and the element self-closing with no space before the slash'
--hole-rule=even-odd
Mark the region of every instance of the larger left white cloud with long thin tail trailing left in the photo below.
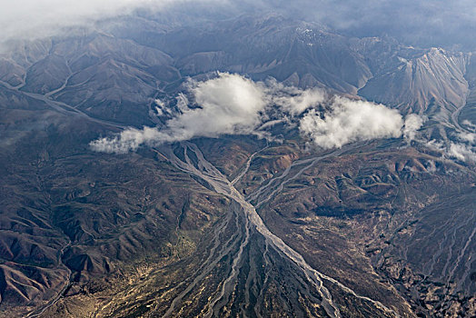
<svg viewBox="0 0 476 318">
<path fill-rule="evenodd" d="M 252 134 L 261 124 L 262 112 L 269 103 L 264 84 L 241 75 L 221 73 L 208 81 L 191 82 L 189 90 L 198 107 L 190 108 L 187 97 L 179 94 L 177 107 L 181 114 L 169 120 L 163 130 L 128 129 L 113 138 L 92 142 L 92 148 L 105 153 L 126 153 L 141 144 L 183 141 L 196 136 Z"/>
</svg>

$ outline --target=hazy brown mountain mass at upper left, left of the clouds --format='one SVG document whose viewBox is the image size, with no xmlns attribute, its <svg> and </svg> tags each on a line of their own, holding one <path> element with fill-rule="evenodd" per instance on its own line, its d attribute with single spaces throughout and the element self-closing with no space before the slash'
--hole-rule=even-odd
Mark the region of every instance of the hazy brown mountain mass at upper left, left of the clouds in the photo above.
<svg viewBox="0 0 476 318">
<path fill-rule="evenodd" d="M 0 76 L 25 92 L 44 94 L 86 114 L 141 125 L 152 124 L 149 102 L 168 83 L 164 78 L 177 79 L 171 64 L 172 58 L 161 51 L 93 34 L 26 43 L 3 57 Z"/>
</svg>

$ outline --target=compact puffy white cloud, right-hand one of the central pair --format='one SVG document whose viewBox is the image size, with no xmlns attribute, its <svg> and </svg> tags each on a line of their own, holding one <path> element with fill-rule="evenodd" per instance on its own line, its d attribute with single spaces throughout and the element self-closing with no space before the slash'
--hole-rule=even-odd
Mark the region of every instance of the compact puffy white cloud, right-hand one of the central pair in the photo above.
<svg viewBox="0 0 476 318">
<path fill-rule="evenodd" d="M 382 104 L 335 97 L 328 114 L 311 110 L 299 129 L 322 148 L 342 147 L 356 141 L 397 138 L 402 135 L 402 115 Z"/>
</svg>

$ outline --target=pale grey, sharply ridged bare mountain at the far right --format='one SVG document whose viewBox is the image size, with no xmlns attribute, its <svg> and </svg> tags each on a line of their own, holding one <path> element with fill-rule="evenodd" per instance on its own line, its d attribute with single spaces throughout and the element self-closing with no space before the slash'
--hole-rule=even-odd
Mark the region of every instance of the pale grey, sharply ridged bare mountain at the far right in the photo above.
<svg viewBox="0 0 476 318">
<path fill-rule="evenodd" d="M 366 99 L 395 105 L 405 112 L 435 115 L 451 114 L 465 103 L 468 93 L 467 56 L 431 48 L 376 74 L 359 91 Z"/>
</svg>

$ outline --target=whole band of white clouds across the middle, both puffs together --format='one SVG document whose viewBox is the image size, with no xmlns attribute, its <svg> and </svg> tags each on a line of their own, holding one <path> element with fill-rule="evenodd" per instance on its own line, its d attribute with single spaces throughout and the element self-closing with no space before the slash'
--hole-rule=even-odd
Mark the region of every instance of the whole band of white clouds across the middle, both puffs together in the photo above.
<svg viewBox="0 0 476 318">
<path fill-rule="evenodd" d="M 256 134 L 271 138 L 266 129 L 279 123 L 288 127 L 298 124 L 301 133 L 311 137 L 314 144 L 332 148 L 359 140 L 396 138 L 402 132 L 406 138 L 412 138 L 423 122 L 411 115 L 404 124 L 396 110 L 344 97 L 334 97 L 331 111 L 321 116 L 315 108 L 328 102 L 321 90 L 285 87 L 275 81 L 253 82 L 228 73 L 219 73 L 203 82 L 192 81 L 188 91 L 193 103 L 185 94 L 179 94 L 179 114 L 161 130 L 129 129 L 92 142 L 92 148 L 106 153 L 126 153 L 141 144 L 162 144 L 197 136 Z M 165 104 L 160 100 L 155 104 L 157 113 L 163 114 Z"/>
</svg>

